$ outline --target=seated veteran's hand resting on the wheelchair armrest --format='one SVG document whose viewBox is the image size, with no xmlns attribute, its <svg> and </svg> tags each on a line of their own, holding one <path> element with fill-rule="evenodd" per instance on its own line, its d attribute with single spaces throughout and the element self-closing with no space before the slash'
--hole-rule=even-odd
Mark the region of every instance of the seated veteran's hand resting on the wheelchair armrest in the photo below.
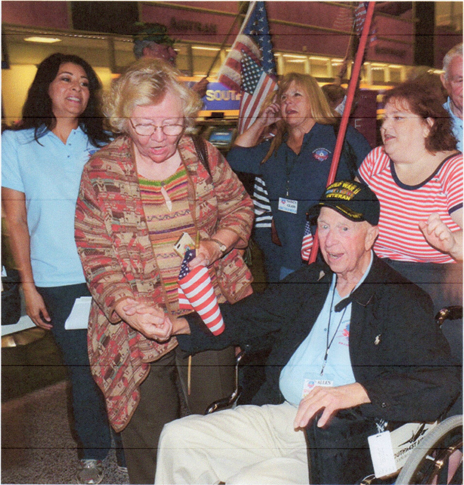
<svg viewBox="0 0 464 485">
<path fill-rule="evenodd" d="M 317 426 L 322 428 L 340 409 L 348 409 L 370 402 L 366 389 L 357 382 L 334 388 L 316 386 L 308 396 L 301 400 L 293 427 L 295 429 L 304 428 L 321 409 L 324 409 L 317 423 Z"/>
</svg>

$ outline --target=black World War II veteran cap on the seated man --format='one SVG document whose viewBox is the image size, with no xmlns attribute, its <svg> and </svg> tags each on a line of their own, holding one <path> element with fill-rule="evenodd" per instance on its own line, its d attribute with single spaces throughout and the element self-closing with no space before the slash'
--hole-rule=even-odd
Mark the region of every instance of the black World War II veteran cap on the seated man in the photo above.
<svg viewBox="0 0 464 485">
<path fill-rule="evenodd" d="M 319 204 L 309 209 L 309 221 L 319 215 L 321 207 L 330 207 L 351 221 L 378 225 L 380 203 L 377 195 L 361 182 L 340 180 L 330 184 Z"/>
</svg>

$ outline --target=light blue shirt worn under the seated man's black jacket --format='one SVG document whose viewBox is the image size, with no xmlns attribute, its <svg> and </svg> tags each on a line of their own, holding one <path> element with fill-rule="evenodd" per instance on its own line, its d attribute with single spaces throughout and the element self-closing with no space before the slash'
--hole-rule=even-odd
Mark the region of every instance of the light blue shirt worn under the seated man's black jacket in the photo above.
<svg viewBox="0 0 464 485">
<path fill-rule="evenodd" d="M 368 275 L 372 260 L 371 251 L 369 266 L 355 289 L 361 285 Z M 282 372 L 280 372 L 280 391 L 285 400 L 294 406 L 300 404 L 303 392 L 307 395 L 314 386 L 330 384 L 335 387 L 356 382 L 349 354 L 351 303 L 339 312 L 334 310 L 335 306 L 343 299 L 335 288 L 336 280 L 336 275 L 334 274 L 324 307 L 319 313 L 308 337 L 303 340 L 282 369 Z M 329 344 L 334 334 L 335 337 L 330 345 L 327 362 L 321 375 L 327 349 L 327 323 L 330 309 Z M 338 330 L 336 330 L 337 327 Z"/>
</svg>

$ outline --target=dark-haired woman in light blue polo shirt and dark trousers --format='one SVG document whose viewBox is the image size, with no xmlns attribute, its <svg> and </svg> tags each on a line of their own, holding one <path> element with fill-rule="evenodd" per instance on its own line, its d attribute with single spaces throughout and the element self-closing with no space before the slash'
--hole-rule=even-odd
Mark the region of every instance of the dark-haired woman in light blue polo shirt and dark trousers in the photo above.
<svg viewBox="0 0 464 485">
<path fill-rule="evenodd" d="M 80 57 L 52 54 L 38 66 L 22 120 L 1 136 L 2 201 L 27 314 L 52 330 L 72 383 L 83 456 L 77 480 L 98 484 L 111 433 L 89 370 L 87 331 L 65 330 L 76 298 L 90 296 L 74 242 L 82 169 L 109 141 L 95 71 Z M 122 463 L 123 466 L 124 463 Z"/>
</svg>

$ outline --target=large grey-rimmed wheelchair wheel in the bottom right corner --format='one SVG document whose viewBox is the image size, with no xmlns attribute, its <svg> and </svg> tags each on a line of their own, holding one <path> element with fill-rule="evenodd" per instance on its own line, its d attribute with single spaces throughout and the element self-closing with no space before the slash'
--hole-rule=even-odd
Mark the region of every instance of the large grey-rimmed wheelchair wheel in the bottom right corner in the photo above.
<svg viewBox="0 0 464 485">
<path fill-rule="evenodd" d="M 463 416 L 439 423 L 414 450 L 395 484 L 463 483 Z"/>
</svg>

